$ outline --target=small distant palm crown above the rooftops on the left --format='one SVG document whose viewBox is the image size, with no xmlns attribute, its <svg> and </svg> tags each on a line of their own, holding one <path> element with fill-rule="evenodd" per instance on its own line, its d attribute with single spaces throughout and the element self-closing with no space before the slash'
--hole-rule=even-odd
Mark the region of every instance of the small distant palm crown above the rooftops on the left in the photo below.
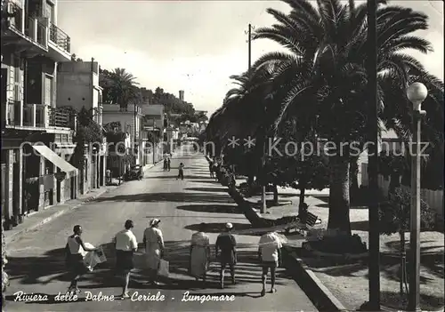
<svg viewBox="0 0 445 312">
<path fill-rule="evenodd" d="M 115 68 L 113 71 L 102 71 L 101 87 L 109 100 L 126 109 L 129 103 L 141 100 L 141 92 L 135 82 L 136 77 L 126 72 L 124 68 Z"/>
</svg>

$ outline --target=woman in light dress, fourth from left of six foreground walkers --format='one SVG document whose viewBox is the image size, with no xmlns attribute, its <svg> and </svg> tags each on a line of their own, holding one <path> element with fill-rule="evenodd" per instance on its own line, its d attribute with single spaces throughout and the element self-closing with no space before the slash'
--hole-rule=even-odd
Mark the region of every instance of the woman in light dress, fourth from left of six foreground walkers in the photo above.
<svg viewBox="0 0 445 312">
<path fill-rule="evenodd" d="M 190 242 L 190 275 L 198 281 L 202 278 L 206 283 L 206 272 L 210 258 L 209 238 L 204 233 L 206 223 L 199 225 L 199 231 L 191 236 Z"/>
</svg>

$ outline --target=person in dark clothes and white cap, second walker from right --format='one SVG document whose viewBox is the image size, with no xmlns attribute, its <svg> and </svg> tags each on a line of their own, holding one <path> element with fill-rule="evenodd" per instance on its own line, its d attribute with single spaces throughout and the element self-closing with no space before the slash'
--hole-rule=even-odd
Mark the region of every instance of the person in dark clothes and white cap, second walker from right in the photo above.
<svg viewBox="0 0 445 312">
<path fill-rule="evenodd" d="M 220 255 L 220 286 L 221 289 L 224 288 L 224 271 L 227 265 L 231 268 L 231 283 L 235 284 L 235 265 L 237 264 L 237 241 L 235 236 L 231 235 L 231 229 L 233 225 L 231 223 L 226 223 L 225 232 L 221 233 L 218 238 L 216 238 L 216 244 L 214 245 L 214 254 L 216 259 L 218 259 L 218 252 L 221 250 Z"/>
</svg>

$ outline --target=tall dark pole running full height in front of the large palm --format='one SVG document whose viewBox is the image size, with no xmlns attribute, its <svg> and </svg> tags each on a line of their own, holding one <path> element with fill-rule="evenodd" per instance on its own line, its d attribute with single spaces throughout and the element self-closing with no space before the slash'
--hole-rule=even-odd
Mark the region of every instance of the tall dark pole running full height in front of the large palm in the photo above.
<svg viewBox="0 0 445 312">
<path fill-rule="evenodd" d="M 368 206 L 369 219 L 369 301 L 368 310 L 380 310 L 380 233 L 378 230 L 378 119 L 377 119 L 377 42 L 376 0 L 368 0 L 368 185 L 371 202 Z"/>
</svg>

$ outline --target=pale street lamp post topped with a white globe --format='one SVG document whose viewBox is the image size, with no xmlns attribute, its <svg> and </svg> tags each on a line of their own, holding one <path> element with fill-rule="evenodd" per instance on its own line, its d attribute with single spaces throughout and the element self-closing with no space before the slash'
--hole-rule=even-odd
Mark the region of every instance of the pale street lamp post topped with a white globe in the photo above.
<svg viewBox="0 0 445 312">
<path fill-rule="evenodd" d="M 411 210 L 409 238 L 409 311 L 421 311 L 420 300 L 420 122 L 426 114 L 421 109 L 428 90 L 424 84 L 414 83 L 407 89 L 408 99 L 413 104 L 413 140 L 415 148 L 409 148 L 411 153 Z"/>
</svg>

